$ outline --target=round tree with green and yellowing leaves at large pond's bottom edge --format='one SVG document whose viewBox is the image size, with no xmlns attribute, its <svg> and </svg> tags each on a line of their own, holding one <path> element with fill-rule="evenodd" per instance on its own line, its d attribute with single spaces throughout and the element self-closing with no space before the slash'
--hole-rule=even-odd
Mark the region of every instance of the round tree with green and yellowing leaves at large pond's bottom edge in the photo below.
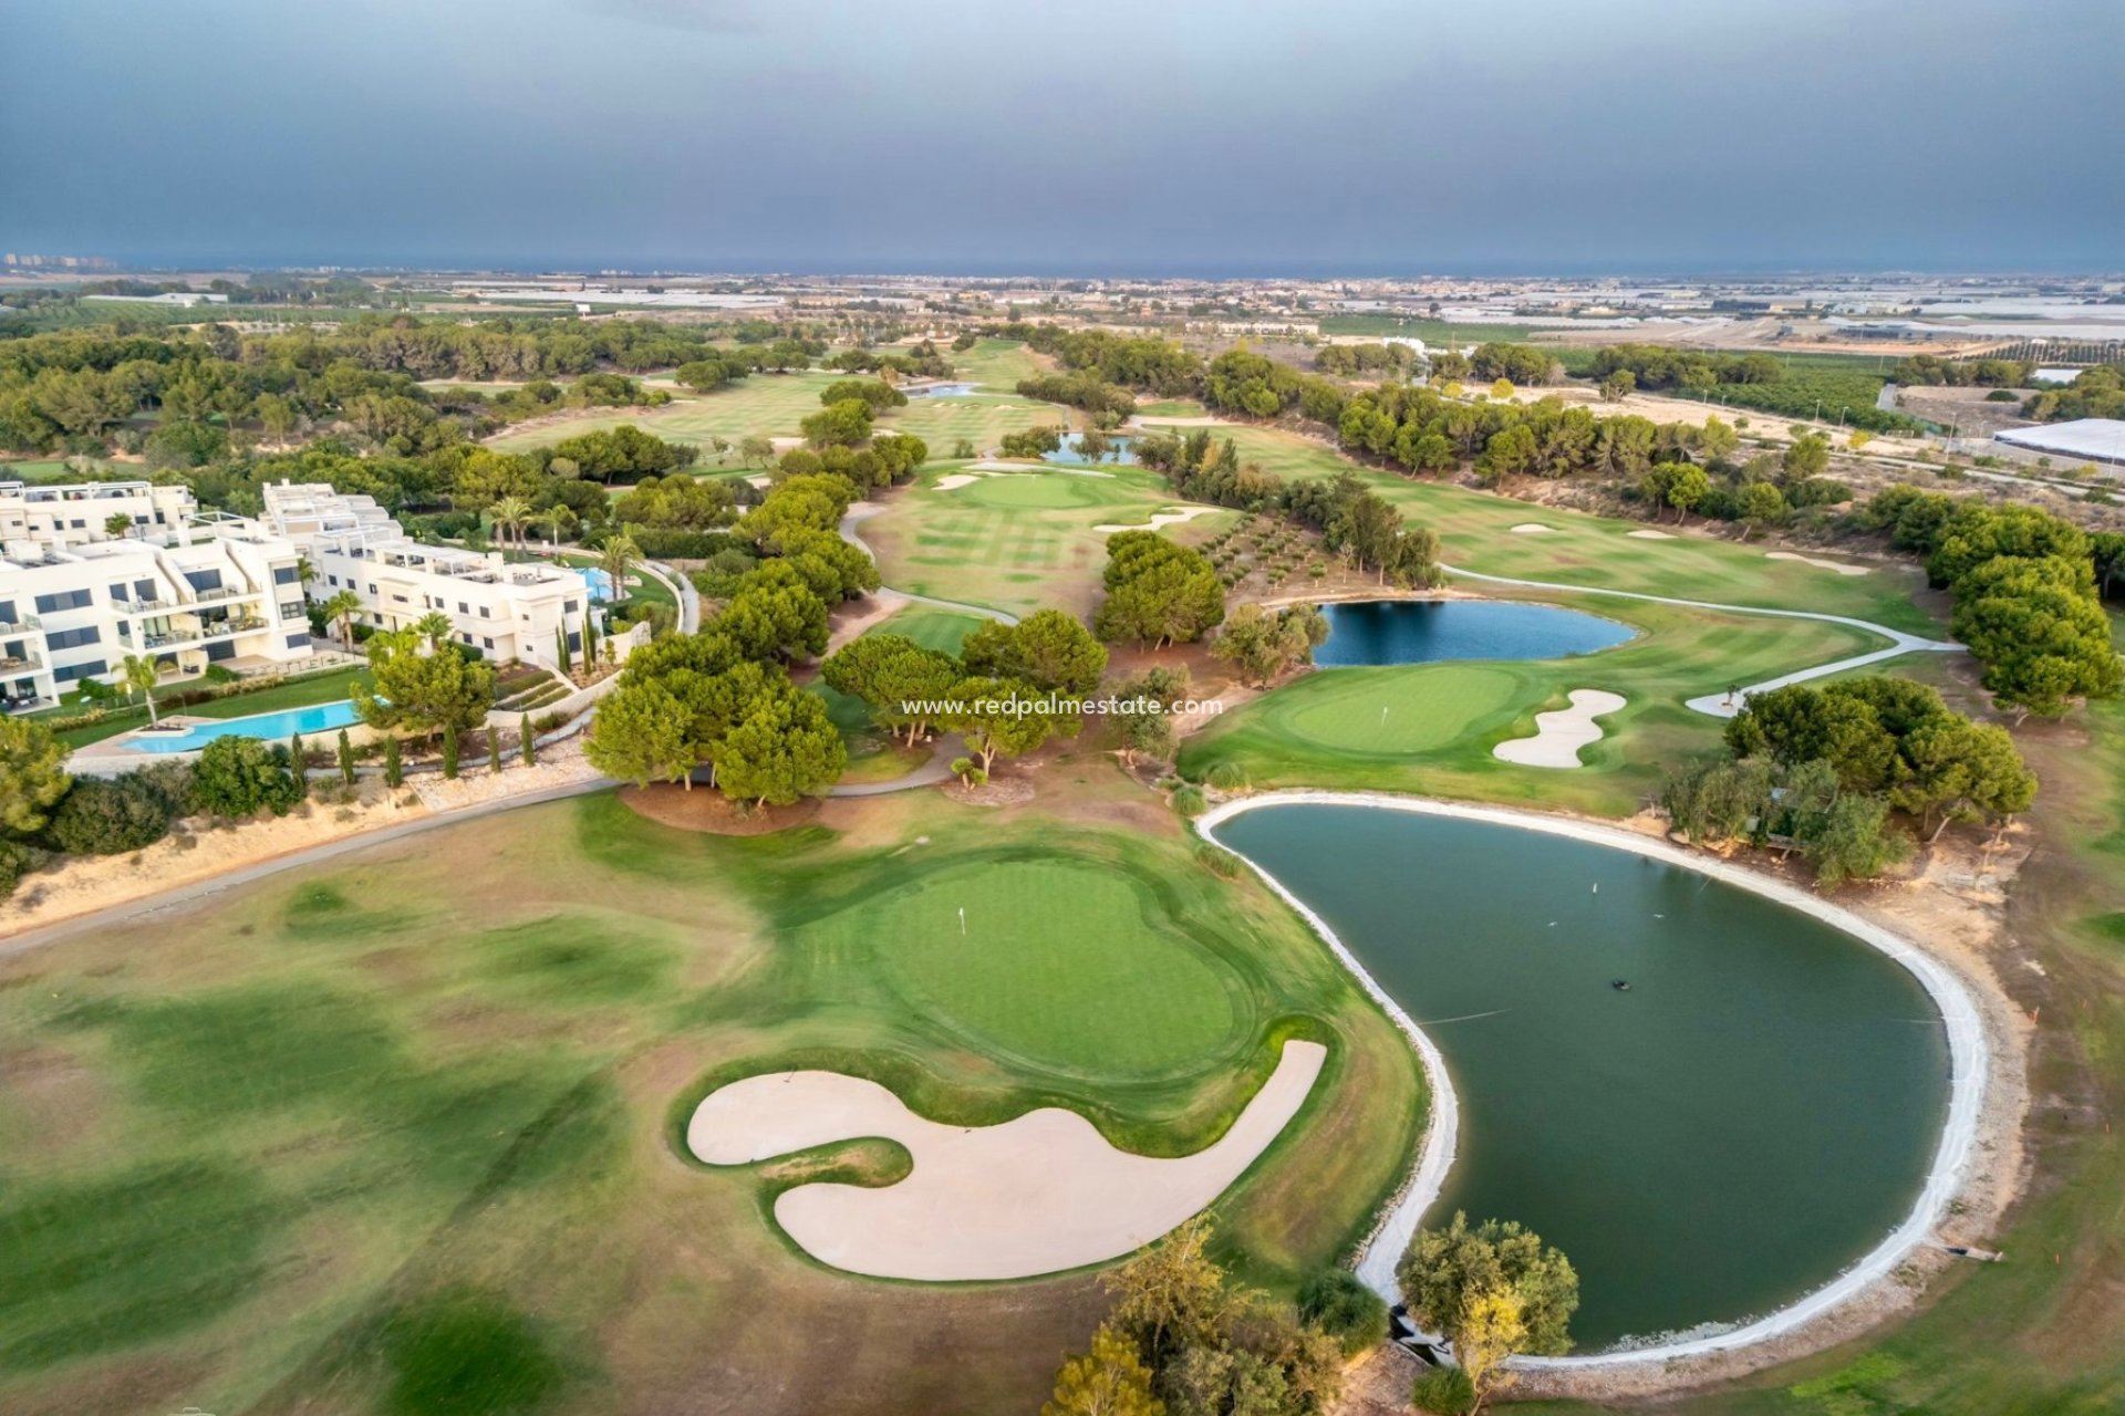
<svg viewBox="0 0 2125 1416">
<path fill-rule="evenodd" d="M 1470 1229 L 1468 1216 L 1456 1212 L 1445 1229 L 1417 1231 L 1394 1276 L 1411 1316 L 1434 1333 L 1458 1333 L 1477 1297 L 1511 1289 L 1524 1327 L 1515 1350 L 1536 1357 L 1570 1350 L 1579 1274 L 1570 1259 L 1513 1221 L 1488 1219 Z"/>
</svg>

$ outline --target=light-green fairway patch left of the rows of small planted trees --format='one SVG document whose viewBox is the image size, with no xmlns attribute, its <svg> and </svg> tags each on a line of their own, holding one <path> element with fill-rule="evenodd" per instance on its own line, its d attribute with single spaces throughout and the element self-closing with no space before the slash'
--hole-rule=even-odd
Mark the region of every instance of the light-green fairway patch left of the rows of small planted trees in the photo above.
<svg viewBox="0 0 2125 1416">
<path fill-rule="evenodd" d="M 963 486 L 941 480 L 967 476 Z M 1173 505 L 1164 484 L 1135 467 L 1107 476 L 1028 465 L 1028 471 L 963 473 L 926 469 L 888 510 L 863 524 L 895 590 L 1026 614 L 1060 605 L 1090 614 L 1107 558 L 1096 526 L 1143 524 Z M 1237 512 L 1175 526 L 1182 539 L 1209 535 Z"/>
</svg>

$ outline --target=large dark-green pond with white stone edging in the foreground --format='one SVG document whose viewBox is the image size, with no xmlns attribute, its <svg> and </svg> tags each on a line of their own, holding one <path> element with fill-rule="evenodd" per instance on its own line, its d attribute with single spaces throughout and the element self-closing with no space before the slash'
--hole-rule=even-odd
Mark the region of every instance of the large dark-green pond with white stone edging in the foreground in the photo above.
<svg viewBox="0 0 2125 1416">
<path fill-rule="evenodd" d="M 1910 1212 L 1951 1055 L 1876 949 L 1513 826 L 1298 802 L 1216 834 L 1439 1044 L 1460 1144 L 1424 1223 L 1517 1219 L 1570 1255 L 1579 1352 L 1764 1316 Z"/>
</svg>

